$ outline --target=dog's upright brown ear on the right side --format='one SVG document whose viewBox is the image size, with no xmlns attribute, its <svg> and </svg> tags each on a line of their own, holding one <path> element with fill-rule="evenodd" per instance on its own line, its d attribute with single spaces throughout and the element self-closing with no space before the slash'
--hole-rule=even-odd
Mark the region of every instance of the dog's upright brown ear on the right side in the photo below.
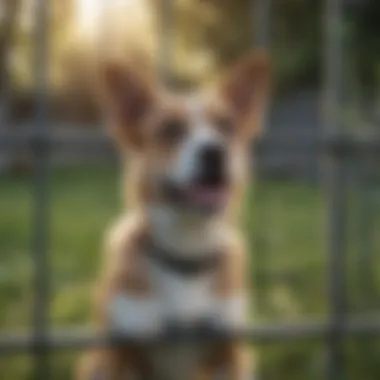
<svg viewBox="0 0 380 380">
<path fill-rule="evenodd" d="M 236 114 L 244 137 L 256 136 L 261 129 L 270 93 L 270 62 L 263 51 L 253 52 L 224 78 L 221 94 Z"/>
</svg>

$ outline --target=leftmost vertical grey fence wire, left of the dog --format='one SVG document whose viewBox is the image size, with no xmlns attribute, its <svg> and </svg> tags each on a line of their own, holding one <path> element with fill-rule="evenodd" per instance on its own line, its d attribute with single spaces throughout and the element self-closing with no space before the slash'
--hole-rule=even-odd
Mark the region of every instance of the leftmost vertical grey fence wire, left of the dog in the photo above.
<svg viewBox="0 0 380 380">
<path fill-rule="evenodd" d="M 48 142 L 47 127 L 47 56 L 48 56 L 48 1 L 39 0 L 35 8 L 35 89 L 36 125 L 32 150 L 35 160 L 33 211 L 34 311 L 33 328 L 36 338 L 44 340 L 49 319 L 49 265 L 48 265 Z M 46 347 L 35 347 L 34 378 L 49 378 L 49 358 Z"/>
</svg>

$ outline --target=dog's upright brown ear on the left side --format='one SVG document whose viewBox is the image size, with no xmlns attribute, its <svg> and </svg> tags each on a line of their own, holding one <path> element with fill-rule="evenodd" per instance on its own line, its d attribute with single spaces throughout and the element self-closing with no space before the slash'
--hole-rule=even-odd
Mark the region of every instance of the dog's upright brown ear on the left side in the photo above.
<svg viewBox="0 0 380 380">
<path fill-rule="evenodd" d="M 142 124 L 155 101 L 153 78 L 121 63 L 101 70 L 102 102 L 114 137 L 128 148 L 143 144 Z"/>
</svg>

